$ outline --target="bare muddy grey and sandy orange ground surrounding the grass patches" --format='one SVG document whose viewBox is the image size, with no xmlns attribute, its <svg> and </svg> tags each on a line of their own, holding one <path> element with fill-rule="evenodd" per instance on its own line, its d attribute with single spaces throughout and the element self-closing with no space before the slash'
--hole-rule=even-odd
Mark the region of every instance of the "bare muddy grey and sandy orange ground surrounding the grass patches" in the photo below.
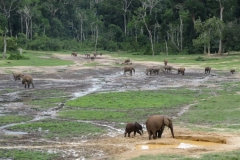
<svg viewBox="0 0 240 160">
<path fill-rule="evenodd" d="M 22 102 L 29 99 L 39 99 L 32 95 L 32 90 L 48 90 L 57 88 L 67 92 L 70 98 L 80 97 L 93 92 L 101 91 L 125 91 L 125 90 L 153 90 L 167 87 L 211 87 L 215 88 L 218 83 L 224 81 L 239 81 L 238 74 L 230 75 L 229 72 L 213 71 L 206 75 L 198 66 L 186 69 L 184 76 L 178 75 L 176 70 L 172 73 L 160 72 L 159 75 L 147 76 L 147 66 L 163 67 L 163 62 L 132 61 L 136 73 L 124 76 L 120 65 L 124 59 L 112 58 L 107 55 L 98 56 L 94 62 L 96 67 L 87 67 L 85 64 L 92 63 L 83 55 L 71 57 L 70 55 L 55 54 L 55 57 L 71 60 L 73 65 L 56 67 L 9 67 L 0 70 L 0 91 L 4 89 L 16 89 L 15 92 L 0 95 L 0 115 L 7 112 L 24 112 L 34 115 L 34 120 L 55 118 L 61 104 L 41 112 L 26 107 Z M 42 57 L 49 58 L 49 57 Z M 181 67 L 171 64 L 174 68 Z M 20 82 L 13 80 L 12 71 L 29 73 L 34 77 L 34 89 L 24 89 Z M 207 82 L 207 83 L 206 83 Z M 181 116 L 187 112 L 189 106 L 173 116 Z M 97 124 L 97 122 L 96 122 Z M 175 138 L 170 130 L 165 130 L 163 137 L 157 140 L 148 140 L 148 134 L 144 131 L 142 136 L 125 138 L 124 129 L 118 129 L 115 124 L 97 124 L 109 129 L 109 134 L 101 135 L 94 139 L 76 139 L 64 141 L 49 141 L 37 139 L 31 134 L 16 133 L 18 138 L 13 140 L 2 139 L 1 135 L 11 134 L 8 126 L 0 126 L 0 149 L 32 149 L 47 150 L 52 153 L 61 153 L 63 159 L 131 159 L 145 154 L 183 154 L 199 157 L 203 153 L 223 152 L 240 149 L 240 135 L 233 132 L 194 132 L 185 127 L 174 125 Z M 204 127 L 204 126 L 199 126 Z"/>
</svg>

